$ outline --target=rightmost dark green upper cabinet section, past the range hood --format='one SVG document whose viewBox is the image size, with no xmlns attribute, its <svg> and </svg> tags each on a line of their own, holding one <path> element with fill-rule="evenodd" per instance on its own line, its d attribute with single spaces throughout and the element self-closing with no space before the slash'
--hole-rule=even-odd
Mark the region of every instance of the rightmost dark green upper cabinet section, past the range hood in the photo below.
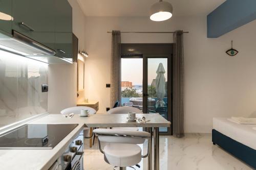
<svg viewBox="0 0 256 170">
<path fill-rule="evenodd" d="M 54 0 L 54 2 L 56 55 L 73 61 L 72 7 L 67 0 Z"/>
</svg>

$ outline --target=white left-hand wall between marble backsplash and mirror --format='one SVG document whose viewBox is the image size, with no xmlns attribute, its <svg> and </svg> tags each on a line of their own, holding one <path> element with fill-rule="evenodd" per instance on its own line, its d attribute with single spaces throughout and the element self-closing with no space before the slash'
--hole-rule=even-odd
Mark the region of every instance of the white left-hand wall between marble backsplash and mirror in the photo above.
<svg viewBox="0 0 256 170">
<path fill-rule="evenodd" d="M 73 8 L 73 33 L 78 37 L 78 49 L 84 48 L 85 16 L 76 0 L 68 0 Z M 76 106 L 77 68 L 74 64 L 49 65 L 48 110 L 59 114 L 62 109 Z"/>
</svg>

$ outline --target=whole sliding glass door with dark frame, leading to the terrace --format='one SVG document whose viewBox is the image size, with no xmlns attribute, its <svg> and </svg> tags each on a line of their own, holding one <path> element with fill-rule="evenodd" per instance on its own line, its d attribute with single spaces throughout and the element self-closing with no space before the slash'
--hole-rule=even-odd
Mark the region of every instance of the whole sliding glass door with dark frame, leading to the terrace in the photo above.
<svg viewBox="0 0 256 170">
<path fill-rule="evenodd" d="M 173 44 L 121 46 L 121 105 L 159 113 L 172 122 Z M 172 135 L 172 127 L 159 130 Z"/>
</svg>

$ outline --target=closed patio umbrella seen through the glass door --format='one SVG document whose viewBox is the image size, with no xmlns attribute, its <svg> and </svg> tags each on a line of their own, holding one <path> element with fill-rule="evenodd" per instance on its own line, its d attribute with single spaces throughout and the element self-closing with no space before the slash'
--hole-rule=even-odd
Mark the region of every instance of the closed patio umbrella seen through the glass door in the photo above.
<svg viewBox="0 0 256 170">
<path fill-rule="evenodd" d="M 164 101 L 163 98 L 165 96 L 165 77 L 164 77 L 164 67 L 162 63 L 159 63 L 157 68 L 157 77 L 156 77 L 156 92 L 158 101 L 156 102 L 156 108 L 163 107 Z"/>
</svg>

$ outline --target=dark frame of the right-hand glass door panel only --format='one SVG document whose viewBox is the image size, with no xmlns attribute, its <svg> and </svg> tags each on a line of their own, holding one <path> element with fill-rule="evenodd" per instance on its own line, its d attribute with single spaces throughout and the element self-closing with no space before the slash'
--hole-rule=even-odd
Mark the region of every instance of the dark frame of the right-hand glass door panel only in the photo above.
<svg viewBox="0 0 256 170">
<path fill-rule="evenodd" d="M 148 82 L 148 59 L 149 58 L 167 58 L 167 117 L 171 122 L 171 126 L 167 128 L 167 132 L 160 132 L 160 135 L 173 135 L 173 54 L 143 55 L 143 113 L 147 113 L 147 82 Z"/>
</svg>

